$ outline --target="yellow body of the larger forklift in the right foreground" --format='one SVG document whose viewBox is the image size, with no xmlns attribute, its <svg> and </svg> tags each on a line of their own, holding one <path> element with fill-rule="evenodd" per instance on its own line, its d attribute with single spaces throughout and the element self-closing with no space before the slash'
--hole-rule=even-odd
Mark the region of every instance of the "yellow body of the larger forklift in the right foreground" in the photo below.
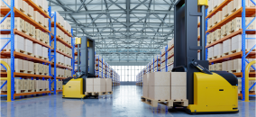
<svg viewBox="0 0 256 117">
<path fill-rule="evenodd" d="M 237 85 L 231 85 L 223 76 L 194 73 L 194 104 L 190 112 L 238 112 Z"/>
</svg>

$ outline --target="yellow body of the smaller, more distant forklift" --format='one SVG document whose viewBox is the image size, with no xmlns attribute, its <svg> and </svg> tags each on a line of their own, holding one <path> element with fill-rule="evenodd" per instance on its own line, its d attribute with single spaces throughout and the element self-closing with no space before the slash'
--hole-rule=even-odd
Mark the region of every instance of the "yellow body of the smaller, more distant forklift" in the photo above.
<svg viewBox="0 0 256 117">
<path fill-rule="evenodd" d="M 72 78 L 66 85 L 63 86 L 64 98 L 84 98 L 86 95 L 83 94 L 83 78 Z"/>
</svg>

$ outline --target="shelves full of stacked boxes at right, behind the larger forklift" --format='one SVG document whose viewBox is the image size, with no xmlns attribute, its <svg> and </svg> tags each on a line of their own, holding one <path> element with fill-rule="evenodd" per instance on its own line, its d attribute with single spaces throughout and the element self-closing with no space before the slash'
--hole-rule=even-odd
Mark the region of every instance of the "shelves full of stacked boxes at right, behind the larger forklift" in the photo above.
<svg viewBox="0 0 256 117">
<path fill-rule="evenodd" d="M 215 0 L 211 0 L 215 2 Z M 251 0 L 245 0 L 245 11 L 242 11 L 242 0 L 224 0 L 215 9 L 210 6 L 208 8 L 209 18 L 207 24 L 206 36 L 208 49 L 208 60 L 212 64 L 209 66 L 210 70 L 228 71 L 237 77 L 242 77 L 242 53 L 245 52 L 248 62 L 255 60 L 255 4 Z M 210 9 L 210 10 L 209 10 Z M 212 9 L 212 10 L 211 10 Z M 243 12 L 245 15 L 242 16 Z M 242 28 L 242 17 L 245 18 L 245 28 Z M 251 24 L 250 24 L 251 23 Z M 249 25 L 250 24 L 250 25 Z M 245 38 L 242 39 L 242 31 L 245 31 Z M 244 46 L 242 46 L 242 43 Z M 245 51 L 242 51 L 245 49 Z M 251 50 L 251 53 L 248 51 Z M 248 63 L 245 61 L 245 66 Z M 250 67 L 250 76 L 255 76 L 255 67 Z M 255 81 L 249 81 L 249 85 L 254 84 Z M 238 94 L 241 96 L 242 80 L 239 79 Z M 244 90 L 243 90 L 244 91 Z M 251 91 L 255 94 L 255 88 Z M 250 92 L 251 93 L 251 92 Z"/>
</svg>

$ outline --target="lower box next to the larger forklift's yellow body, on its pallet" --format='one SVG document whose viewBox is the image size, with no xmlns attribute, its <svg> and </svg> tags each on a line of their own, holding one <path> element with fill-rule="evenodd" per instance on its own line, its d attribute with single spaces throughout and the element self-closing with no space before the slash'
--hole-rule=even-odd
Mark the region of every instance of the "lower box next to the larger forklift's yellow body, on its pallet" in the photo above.
<svg viewBox="0 0 256 117">
<path fill-rule="evenodd" d="M 187 99 L 187 86 L 171 86 L 170 99 L 180 100 Z"/>
</svg>

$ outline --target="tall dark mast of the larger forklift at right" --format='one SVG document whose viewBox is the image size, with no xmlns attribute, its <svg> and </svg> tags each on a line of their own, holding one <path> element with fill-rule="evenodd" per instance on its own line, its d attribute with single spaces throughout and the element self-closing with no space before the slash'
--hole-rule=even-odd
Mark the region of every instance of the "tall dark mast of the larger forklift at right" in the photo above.
<svg viewBox="0 0 256 117">
<path fill-rule="evenodd" d="M 173 72 L 187 72 L 188 104 L 194 103 L 194 72 L 201 72 L 192 64 L 200 50 L 201 67 L 209 67 L 206 59 L 205 18 L 206 7 L 198 9 L 197 0 L 178 0 L 174 7 L 174 67 Z M 200 12 L 201 11 L 201 12 Z M 200 46 L 197 45 L 197 17 L 200 16 Z"/>
</svg>

